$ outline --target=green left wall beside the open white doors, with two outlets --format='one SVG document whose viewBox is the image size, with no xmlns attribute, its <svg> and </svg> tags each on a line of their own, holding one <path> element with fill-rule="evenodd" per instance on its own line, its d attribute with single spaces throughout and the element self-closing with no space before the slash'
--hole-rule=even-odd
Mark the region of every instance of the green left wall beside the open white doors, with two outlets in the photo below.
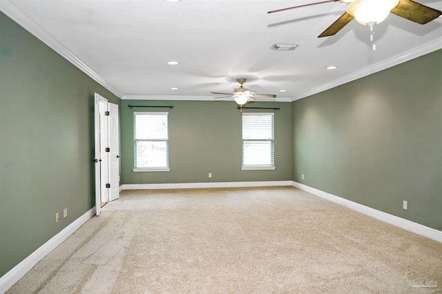
<svg viewBox="0 0 442 294">
<path fill-rule="evenodd" d="M 94 92 L 120 102 L 0 12 L 0 276 L 95 206 Z"/>
</svg>

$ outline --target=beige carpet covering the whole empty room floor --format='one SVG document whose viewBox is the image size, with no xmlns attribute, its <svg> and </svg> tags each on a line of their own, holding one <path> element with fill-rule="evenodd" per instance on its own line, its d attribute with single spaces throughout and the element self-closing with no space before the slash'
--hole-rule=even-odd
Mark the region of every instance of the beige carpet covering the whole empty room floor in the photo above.
<svg viewBox="0 0 442 294">
<path fill-rule="evenodd" d="M 124 190 L 8 293 L 431 293 L 441 285 L 441 243 L 276 187 Z"/>
</svg>

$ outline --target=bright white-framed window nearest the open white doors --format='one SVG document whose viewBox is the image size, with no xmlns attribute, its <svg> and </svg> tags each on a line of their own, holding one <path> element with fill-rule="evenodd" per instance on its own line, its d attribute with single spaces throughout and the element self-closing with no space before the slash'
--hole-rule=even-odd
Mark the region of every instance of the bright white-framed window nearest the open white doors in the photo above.
<svg viewBox="0 0 442 294">
<path fill-rule="evenodd" d="M 133 171 L 169 171 L 169 112 L 133 112 Z"/>
</svg>

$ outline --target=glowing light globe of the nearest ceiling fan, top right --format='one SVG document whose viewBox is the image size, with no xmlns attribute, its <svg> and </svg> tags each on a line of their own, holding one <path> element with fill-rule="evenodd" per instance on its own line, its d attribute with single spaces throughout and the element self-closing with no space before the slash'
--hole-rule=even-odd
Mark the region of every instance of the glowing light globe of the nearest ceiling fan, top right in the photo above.
<svg viewBox="0 0 442 294">
<path fill-rule="evenodd" d="M 367 23 L 381 23 L 398 3 L 399 0 L 356 0 L 349 3 L 347 13 L 364 26 Z"/>
</svg>

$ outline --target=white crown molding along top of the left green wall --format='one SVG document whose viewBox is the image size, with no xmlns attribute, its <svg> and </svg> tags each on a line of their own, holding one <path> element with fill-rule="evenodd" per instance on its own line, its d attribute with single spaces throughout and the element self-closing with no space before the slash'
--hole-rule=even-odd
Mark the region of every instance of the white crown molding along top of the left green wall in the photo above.
<svg viewBox="0 0 442 294">
<path fill-rule="evenodd" d="M 36 21 L 28 17 L 28 15 L 24 14 L 14 6 L 12 1 L 3 0 L 0 1 L 0 10 L 6 14 L 10 19 L 17 22 L 20 26 L 28 30 L 32 35 L 37 37 L 40 41 L 44 42 L 47 46 L 49 46 L 52 50 L 57 52 L 59 55 L 73 63 L 74 66 L 79 68 L 82 72 L 86 73 L 93 80 L 97 81 L 98 84 L 104 86 L 104 88 L 111 91 L 114 95 L 122 98 L 122 93 L 120 93 L 116 88 L 114 88 L 111 84 L 109 84 L 105 79 L 100 77 L 95 71 L 89 68 L 86 63 L 81 61 L 73 52 L 68 50 L 63 44 L 61 44 L 55 37 L 50 35 L 44 28 L 42 28 Z"/>
</svg>

